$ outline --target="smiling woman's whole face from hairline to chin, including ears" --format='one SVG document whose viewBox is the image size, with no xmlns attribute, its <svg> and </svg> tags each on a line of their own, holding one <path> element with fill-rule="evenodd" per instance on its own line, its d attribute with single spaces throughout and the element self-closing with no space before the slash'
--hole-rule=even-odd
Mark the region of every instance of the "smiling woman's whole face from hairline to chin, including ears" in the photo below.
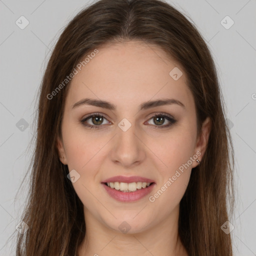
<svg viewBox="0 0 256 256">
<path fill-rule="evenodd" d="M 107 45 L 92 55 L 68 85 L 57 143 L 85 221 L 129 232 L 177 221 L 208 134 L 205 122 L 206 136 L 196 137 L 184 70 L 143 42 Z"/>
</svg>

